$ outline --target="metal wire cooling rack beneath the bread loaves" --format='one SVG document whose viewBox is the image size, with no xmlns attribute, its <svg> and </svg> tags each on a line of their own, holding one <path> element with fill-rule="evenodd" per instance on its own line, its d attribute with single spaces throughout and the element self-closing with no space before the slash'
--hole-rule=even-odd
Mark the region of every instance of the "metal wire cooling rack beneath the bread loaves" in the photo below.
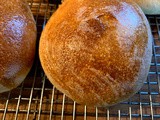
<svg viewBox="0 0 160 120">
<path fill-rule="evenodd" d="M 41 31 L 61 1 L 27 0 L 27 2 L 38 29 L 38 48 Z M 151 68 L 142 89 L 129 100 L 109 109 L 79 105 L 51 85 L 37 55 L 25 81 L 16 89 L 0 94 L 0 119 L 160 120 L 160 16 L 147 15 L 147 18 L 154 37 Z"/>
</svg>

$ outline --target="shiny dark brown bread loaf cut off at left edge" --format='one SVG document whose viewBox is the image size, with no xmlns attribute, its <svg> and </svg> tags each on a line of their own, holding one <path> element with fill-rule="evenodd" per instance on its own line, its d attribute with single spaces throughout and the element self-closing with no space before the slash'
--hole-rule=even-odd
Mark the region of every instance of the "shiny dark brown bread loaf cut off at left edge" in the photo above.
<svg viewBox="0 0 160 120">
<path fill-rule="evenodd" d="M 17 87 L 32 67 L 36 25 L 24 0 L 0 0 L 0 93 Z"/>
</svg>

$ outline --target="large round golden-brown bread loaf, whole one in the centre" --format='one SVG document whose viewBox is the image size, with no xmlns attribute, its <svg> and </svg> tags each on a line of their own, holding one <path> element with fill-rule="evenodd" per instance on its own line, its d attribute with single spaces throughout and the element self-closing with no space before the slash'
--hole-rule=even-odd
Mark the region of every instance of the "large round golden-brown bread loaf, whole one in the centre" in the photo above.
<svg viewBox="0 0 160 120">
<path fill-rule="evenodd" d="M 68 97 L 111 106 L 142 87 L 152 35 L 135 3 L 65 0 L 42 32 L 39 55 L 48 79 Z"/>
</svg>

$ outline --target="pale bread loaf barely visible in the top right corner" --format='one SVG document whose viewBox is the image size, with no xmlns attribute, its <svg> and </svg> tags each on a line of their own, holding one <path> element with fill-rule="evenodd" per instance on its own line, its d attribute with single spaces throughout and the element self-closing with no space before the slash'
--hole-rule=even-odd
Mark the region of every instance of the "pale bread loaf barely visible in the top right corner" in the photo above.
<svg viewBox="0 0 160 120">
<path fill-rule="evenodd" d="M 160 14 L 160 0 L 133 0 L 145 14 Z"/>
</svg>

